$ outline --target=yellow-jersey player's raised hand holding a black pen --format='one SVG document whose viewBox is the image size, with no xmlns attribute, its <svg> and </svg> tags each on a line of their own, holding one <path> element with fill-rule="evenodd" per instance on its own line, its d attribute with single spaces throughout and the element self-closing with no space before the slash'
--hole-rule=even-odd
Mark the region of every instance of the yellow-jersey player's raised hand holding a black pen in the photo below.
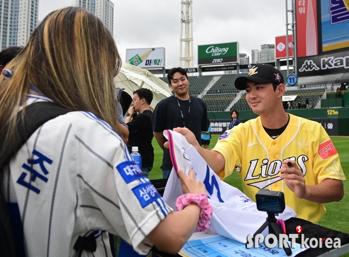
<svg viewBox="0 0 349 257">
<path fill-rule="evenodd" d="M 287 166 L 288 162 L 292 164 L 291 168 Z M 297 166 L 297 163 L 291 160 L 284 160 L 284 164 L 282 165 L 280 172 L 281 172 L 280 178 L 285 180 L 287 187 L 293 193 L 295 193 L 295 195 L 298 198 L 300 199 L 306 198 L 307 189 L 306 189 L 304 174 Z"/>
</svg>

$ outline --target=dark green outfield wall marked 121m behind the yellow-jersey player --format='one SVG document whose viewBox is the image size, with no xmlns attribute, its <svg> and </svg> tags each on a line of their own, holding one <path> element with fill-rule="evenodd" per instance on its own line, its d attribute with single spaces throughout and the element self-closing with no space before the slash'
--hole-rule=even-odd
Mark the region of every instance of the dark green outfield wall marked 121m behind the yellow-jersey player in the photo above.
<svg viewBox="0 0 349 257">
<path fill-rule="evenodd" d="M 285 111 L 321 123 L 330 136 L 349 136 L 349 107 Z M 252 111 L 239 111 L 239 120 L 242 122 L 257 116 Z M 208 112 L 208 119 L 212 127 L 212 134 L 222 134 L 231 121 L 230 112 Z"/>
</svg>

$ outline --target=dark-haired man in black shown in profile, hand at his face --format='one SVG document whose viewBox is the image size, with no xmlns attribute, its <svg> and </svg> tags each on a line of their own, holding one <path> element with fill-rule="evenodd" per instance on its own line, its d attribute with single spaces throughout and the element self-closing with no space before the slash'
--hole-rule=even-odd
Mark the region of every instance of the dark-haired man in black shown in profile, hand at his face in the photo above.
<svg viewBox="0 0 349 257">
<path fill-rule="evenodd" d="M 138 146 L 138 152 L 142 157 L 142 171 L 144 175 L 149 175 L 153 169 L 154 148 L 153 127 L 152 127 L 152 110 L 150 104 L 153 101 L 153 92 L 147 88 L 141 88 L 133 92 L 133 106 L 130 107 L 126 117 L 126 124 L 129 127 L 130 135 L 128 148 L 131 152 L 133 146 Z M 132 121 L 131 118 L 138 112 Z"/>
</svg>

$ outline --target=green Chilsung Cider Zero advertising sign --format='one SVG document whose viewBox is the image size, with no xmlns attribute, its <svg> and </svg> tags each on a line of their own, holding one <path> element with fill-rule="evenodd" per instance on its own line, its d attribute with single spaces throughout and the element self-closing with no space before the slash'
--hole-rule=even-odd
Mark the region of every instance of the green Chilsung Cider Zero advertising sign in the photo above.
<svg viewBox="0 0 349 257">
<path fill-rule="evenodd" d="M 198 65 L 238 62 L 239 42 L 198 45 Z"/>
</svg>

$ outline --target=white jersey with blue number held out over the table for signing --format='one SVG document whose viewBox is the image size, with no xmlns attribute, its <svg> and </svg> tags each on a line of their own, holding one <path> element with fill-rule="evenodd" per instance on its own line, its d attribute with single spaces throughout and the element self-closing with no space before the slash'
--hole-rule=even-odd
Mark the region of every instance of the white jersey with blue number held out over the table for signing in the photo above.
<svg viewBox="0 0 349 257">
<path fill-rule="evenodd" d="M 164 201 L 175 209 L 175 200 L 183 194 L 176 171 L 182 169 L 188 176 L 190 169 L 195 170 L 196 179 L 206 186 L 208 201 L 213 208 L 210 231 L 246 243 L 247 236 L 254 234 L 266 221 L 267 213 L 258 211 L 256 203 L 249 197 L 221 181 L 183 135 L 165 130 L 164 136 L 169 140 L 170 156 L 174 165 L 165 188 Z M 277 218 L 288 220 L 292 217 L 297 217 L 297 214 L 286 206 L 285 211 Z M 262 234 L 266 236 L 268 230 Z"/>
</svg>

